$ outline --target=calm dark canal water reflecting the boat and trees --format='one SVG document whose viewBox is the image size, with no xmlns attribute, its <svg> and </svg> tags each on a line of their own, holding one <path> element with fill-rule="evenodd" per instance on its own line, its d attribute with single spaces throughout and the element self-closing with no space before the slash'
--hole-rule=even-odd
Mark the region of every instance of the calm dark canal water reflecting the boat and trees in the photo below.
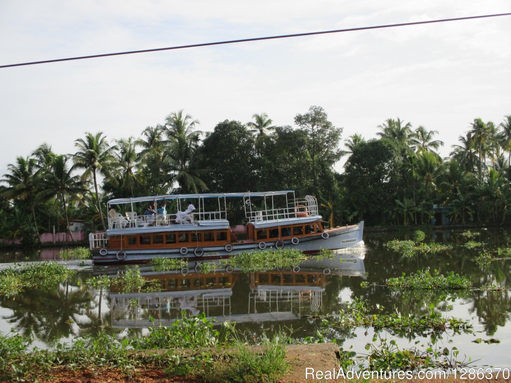
<svg viewBox="0 0 511 383">
<path fill-rule="evenodd" d="M 50 347 L 55 341 L 71 341 L 76 337 L 93 334 L 104 328 L 120 336 L 140 336 L 154 323 L 166 325 L 181 316 L 204 312 L 220 324 L 225 320 L 237 322 L 237 328 L 261 336 L 279 329 L 292 328 L 293 336 L 314 336 L 319 327 L 317 315 L 334 313 L 354 298 L 367 300 L 373 306 L 380 304 L 387 312 L 403 315 L 423 314 L 428 306 L 445 310 L 444 296 L 452 302 L 449 316 L 470 320 L 474 334 L 445 335 L 443 346 L 456 346 L 475 366 L 511 366 L 511 281 L 508 278 L 511 261 L 495 261 L 489 266 L 478 266 L 472 258 L 478 250 L 467 250 L 458 232 L 427 234 L 440 243 L 452 244 L 454 250 L 438 255 L 419 255 L 404 258 L 383 248 L 392 239 L 407 239 L 399 234 L 364 235 L 365 246 L 338 253 L 337 260 L 308 261 L 299 270 L 241 273 L 219 270 L 200 274 L 191 264 L 181 272 L 154 273 L 141 267 L 148 279 L 158 280 L 159 293 L 131 293 L 103 291 L 88 288 L 85 280 L 92 275 L 117 274 L 122 267 L 80 267 L 74 262 L 78 274 L 53 291 L 30 290 L 13 298 L 0 296 L 0 331 L 32 334 L 35 345 Z M 476 241 L 484 242 L 487 249 L 511 247 L 511 230 L 482 230 Z M 0 261 L 58 259 L 58 250 L 34 253 L 5 252 Z M 6 265 L 3 265 L 6 266 Z M 458 293 L 397 292 L 381 285 L 389 277 L 409 274 L 429 267 L 442 273 L 454 271 L 466 275 L 475 287 L 485 284 L 502 286 L 500 292 L 464 291 Z M 369 283 L 361 288 L 360 282 Z M 329 339 L 346 339 L 344 349 L 353 346 L 360 354 L 371 342 L 374 331 L 358 328 L 343 333 L 327 328 Z M 385 333 L 383 333 L 385 334 Z M 500 340 L 498 344 L 475 344 L 476 338 Z M 414 346 L 416 340 L 426 345 L 428 338 L 414 335 L 398 338 L 401 347 Z"/>
</svg>

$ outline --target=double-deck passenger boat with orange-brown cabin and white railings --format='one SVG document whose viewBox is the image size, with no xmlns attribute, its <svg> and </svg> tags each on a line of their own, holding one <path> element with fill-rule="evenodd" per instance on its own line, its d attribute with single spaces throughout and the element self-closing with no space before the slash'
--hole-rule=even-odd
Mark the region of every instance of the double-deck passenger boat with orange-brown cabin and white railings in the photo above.
<svg viewBox="0 0 511 383">
<path fill-rule="evenodd" d="M 154 210 L 135 212 L 148 205 Z M 313 254 L 358 245 L 364 229 L 363 221 L 323 228 L 316 198 L 295 198 L 293 190 L 121 198 L 108 201 L 107 209 L 107 231 L 89 234 L 95 264 L 222 258 L 270 248 Z M 243 224 L 231 225 L 236 218 Z"/>
</svg>

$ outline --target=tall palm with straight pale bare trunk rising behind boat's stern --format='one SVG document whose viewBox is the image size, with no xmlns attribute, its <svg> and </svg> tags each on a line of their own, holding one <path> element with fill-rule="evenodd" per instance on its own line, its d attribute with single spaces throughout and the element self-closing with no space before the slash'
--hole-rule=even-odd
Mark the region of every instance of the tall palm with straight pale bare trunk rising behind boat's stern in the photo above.
<svg viewBox="0 0 511 383">
<path fill-rule="evenodd" d="M 106 230 L 98 190 L 98 175 L 102 175 L 105 178 L 112 178 L 109 171 L 112 169 L 112 162 L 115 160 L 114 150 L 116 150 L 117 147 L 110 146 L 106 136 L 104 136 L 102 132 L 96 133 L 96 135 L 89 132 L 85 133 L 85 139 L 78 138 L 75 140 L 75 147 L 78 148 L 78 152 L 73 155 L 75 167 L 84 170 L 82 181 L 92 177 L 96 199 L 98 201 L 101 224 L 103 225 L 103 230 Z"/>
</svg>

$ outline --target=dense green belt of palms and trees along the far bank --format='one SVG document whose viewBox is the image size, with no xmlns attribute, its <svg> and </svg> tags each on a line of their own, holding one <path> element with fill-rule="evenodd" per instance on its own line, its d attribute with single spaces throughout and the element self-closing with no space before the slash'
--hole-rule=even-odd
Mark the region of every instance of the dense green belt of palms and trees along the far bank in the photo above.
<svg viewBox="0 0 511 383">
<path fill-rule="evenodd" d="M 443 146 L 436 130 L 400 118 L 376 127 L 378 139 L 348 137 L 346 151 L 342 128 L 319 106 L 296 114 L 294 128 L 272 125 L 266 113 L 252 118 L 226 119 L 204 134 L 180 110 L 139 138 L 87 132 L 71 155 L 43 143 L 18 156 L 0 181 L 0 239 L 36 245 L 39 233 L 67 231 L 70 219 L 104 228 L 111 198 L 208 191 L 294 189 L 316 196 L 332 225 L 439 223 L 442 208 L 451 223 L 511 222 L 511 115 L 500 124 L 475 118 L 445 159 L 435 152 Z M 241 211 L 229 202 L 233 224 L 242 223 Z"/>
</svg>

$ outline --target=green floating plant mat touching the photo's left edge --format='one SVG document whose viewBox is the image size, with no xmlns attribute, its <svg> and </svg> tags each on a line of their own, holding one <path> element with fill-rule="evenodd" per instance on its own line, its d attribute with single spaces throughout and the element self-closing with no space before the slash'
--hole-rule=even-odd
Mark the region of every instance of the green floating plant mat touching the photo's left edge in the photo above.
<svg viewBox="0 0 511 383">
<path fill-rule="evenodd" d="M 35 286 L 48 289 L 75 273 L 56 262 L 34 262 L 4 269 L 0 271 L 0 295 L 11 297 Z"/>
</svg>

